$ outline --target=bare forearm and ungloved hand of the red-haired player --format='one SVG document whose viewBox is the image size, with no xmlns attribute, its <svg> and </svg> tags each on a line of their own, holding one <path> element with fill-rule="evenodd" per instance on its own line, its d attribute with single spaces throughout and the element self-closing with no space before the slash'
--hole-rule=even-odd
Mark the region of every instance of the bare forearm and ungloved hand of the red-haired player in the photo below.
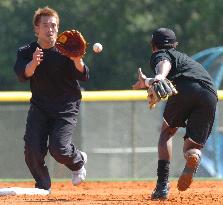
<svg viewBox="0 0 223 205">
<path fill-rule="evenodd" d="M 43 60 L 43 51 L 42 49 L 37 47 L 35 52 L 33 53 L 33 59 L 26 65 L 25 76 L 31 77 L 42 60 Z"/>
</svg>

